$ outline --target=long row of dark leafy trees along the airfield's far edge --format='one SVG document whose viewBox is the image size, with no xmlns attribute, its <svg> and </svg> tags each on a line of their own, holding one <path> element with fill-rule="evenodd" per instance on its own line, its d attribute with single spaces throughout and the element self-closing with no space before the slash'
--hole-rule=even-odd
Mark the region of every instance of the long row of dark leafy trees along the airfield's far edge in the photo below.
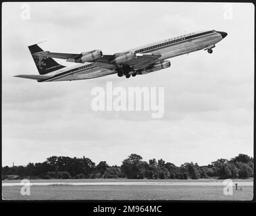
<svg viewBox="0 0 256 216">
<path fill-rule="evenodd" d="M 131 154 L 121 166 L 109 166 L 106 161 L 95 164 L 88 157 L 49 157 L 43 163 L 2 167 L 2 179 L 9 175 L 18 178 L 128 178 L 128 179 L 199 179 L 199 178 L 253 178 L 254 159 L 239 154 L 230 160 L 218 159 L 206 166 L 184 163 L 180 167 L 163 159 L 143 161 L 143 157 Z"/>
</svg>

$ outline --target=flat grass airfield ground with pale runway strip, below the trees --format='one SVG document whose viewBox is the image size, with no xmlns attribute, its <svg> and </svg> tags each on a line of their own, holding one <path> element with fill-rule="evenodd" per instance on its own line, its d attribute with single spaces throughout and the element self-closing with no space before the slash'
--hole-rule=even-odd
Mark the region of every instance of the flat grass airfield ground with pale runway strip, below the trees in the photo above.
<svg viewBox="0 0 256 216">
<path fill-rule="evenodd" d="M 2 183 L 20 181 L 3 181 Z M 63 185 L 34 185 L 30 196 L 22 196 L 22 186 L 3 186 L 7 200 L 252 200 L 253 180 L 234 180 L 242 190 L 232 196 L 223 193 L 221 180 L 31 180 L 34 183 L 61 182 Z M 98 185 L 65 185 L 77 182 Z M 113 185 L 101 185 L 111 182 Z M 115 185 L 115 182 L 117 185 Z M 118 185 L 123 182 L 123 185 Z M 139 183 L 140 185 L 136 185 Z M 157 183 L 157 184 L 153 184 Z M 206 184 L 207 183 L 207 184 Z M 134 184 L 134 185 L 133 185 Z M 148 185 L 149 184 L 149 185 Z M 181 184 L 181 185 L 180 185 Z M 248 186 L 249 185 L 249 186 Z"/>
</svg>

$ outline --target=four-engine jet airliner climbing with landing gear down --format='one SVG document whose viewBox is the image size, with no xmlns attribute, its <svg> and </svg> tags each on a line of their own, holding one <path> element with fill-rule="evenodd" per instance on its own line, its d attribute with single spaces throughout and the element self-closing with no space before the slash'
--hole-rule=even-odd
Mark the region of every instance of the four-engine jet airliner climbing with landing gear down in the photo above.
<svg viewBox="0 0 256 216">
<path fill-rule="evenodd" d="M 43 51 L 38 44 L 34 44 L 28 49 L 39 75 L 17 75 L 15 77 L 37 80 L 37 82 L 84 80 L 111 74 L 130 78 L 130 76 L 170 68 L 171 63 L 166 59 L 178 55 L 202 49 L 213 53 L 212 49 L 215 44 L 226 36 L 226 32 L 215 30 L 192 32 L 113 55 L 103 55 L 99 49 L 80 54 L 51 53 Z M 57 63 L 53 58 L 66 59 L 66 61 L 78 64 L 66 67 Z"/>
</svg>

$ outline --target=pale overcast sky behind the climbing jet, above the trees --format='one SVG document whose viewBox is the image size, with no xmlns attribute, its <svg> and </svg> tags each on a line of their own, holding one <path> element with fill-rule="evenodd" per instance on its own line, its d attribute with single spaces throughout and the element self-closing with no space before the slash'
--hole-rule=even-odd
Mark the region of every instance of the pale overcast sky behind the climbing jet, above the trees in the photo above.
<svg viewBox="0 0 256 216">
<path fill-rule="evenodd" d="M 121 165 L 131 153 L 175 165 L 253 156 L 253 4 L 232 4 L 231 20 L 223 3 L 29 3 L 30 20 L 20 18 L 21 5 L 2 7 L 3 165 L 53 155 L 84 155 L 109 165 Z M 211 55 L 174 57 L 171 68 L 145 76 L 48 83 L 13 77 L 38 74 L 28 45 L 40 41 L 47 40 L 41 44 L 47 51 L 113 54 L 211 29 L 228 32 Z M 165 115 L 93 111 L 91 90 L 107 81 L 164 87 Z"/>
</svg>

